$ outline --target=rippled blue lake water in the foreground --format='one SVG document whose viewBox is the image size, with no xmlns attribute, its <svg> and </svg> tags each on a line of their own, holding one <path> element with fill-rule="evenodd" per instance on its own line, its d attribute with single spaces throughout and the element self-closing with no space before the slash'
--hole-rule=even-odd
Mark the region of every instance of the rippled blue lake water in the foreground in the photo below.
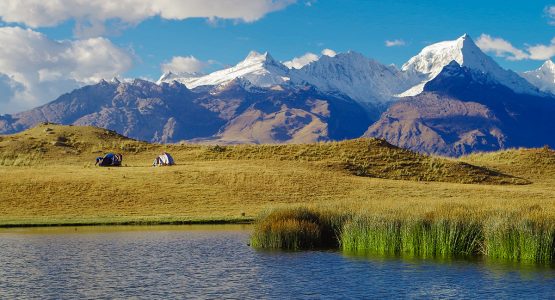
<svg viewBox="0 0 555 300">
<path fill-rule="evenodd" d="M 256 251 L 249 230 L 0 230 L 0 298 L 555 298 L 554 268 Z"/>
</svg>

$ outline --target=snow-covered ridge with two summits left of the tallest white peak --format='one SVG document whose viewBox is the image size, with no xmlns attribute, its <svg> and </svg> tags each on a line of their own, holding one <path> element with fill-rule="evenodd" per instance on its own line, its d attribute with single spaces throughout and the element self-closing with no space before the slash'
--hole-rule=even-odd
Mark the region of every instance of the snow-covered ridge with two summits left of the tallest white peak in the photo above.
<svg viewBox="0 0 555 300">
<path fill-rule="evenodd" d="M 394 100 L 411 85 L 394 66 L 385 66 L 356 52 L 335 56 L 322 55 L 302 68 L 288 68 L 268 53 L 251 52 L 236 66 L 199 76 L 198 74 L 165 73 L 158 80 L 178 81 L 189 89 L 226 84 L 235 79 L 256 87 L 276 85 L 312 85 L 322 92 L 345 95 L 361 103 L 384 104 Z"/>
</svg>

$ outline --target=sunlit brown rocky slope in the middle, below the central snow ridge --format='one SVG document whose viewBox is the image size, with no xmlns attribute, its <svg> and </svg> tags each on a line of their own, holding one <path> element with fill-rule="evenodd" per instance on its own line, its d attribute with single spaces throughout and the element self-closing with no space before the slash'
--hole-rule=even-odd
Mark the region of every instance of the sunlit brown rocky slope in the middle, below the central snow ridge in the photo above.
<svg viewBox="0 0 555 300">
<path fill-rule="evenodd" d="M 350 139 L 360 137 L 372 123 L 357 102 L 323 95 L 312 87 L 243 91 L 239 97 L 229 97 L 228 91 L 224 93 L 226 101 L 220 102 L 233 103 L 234 112 L 227 112 L 233 118 L 216 137 L 224 142 L 304 143 Z M 215 96 L 203 100 L 213 105 L 219 99 Z"/>
</svg>

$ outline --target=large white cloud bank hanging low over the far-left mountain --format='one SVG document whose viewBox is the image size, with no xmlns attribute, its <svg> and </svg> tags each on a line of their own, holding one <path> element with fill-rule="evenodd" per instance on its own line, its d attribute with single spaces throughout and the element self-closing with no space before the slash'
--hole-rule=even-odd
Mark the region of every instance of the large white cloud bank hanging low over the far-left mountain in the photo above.
<svg viewBox="0 0 555 300">
<path fill-rule="evenodd" d="M 0 27 L 0 45 L 0 114 L 44 104 L 133 64 L 129 52 L 105 38 L 60 42 L 30 29 Z"/>
</svg>

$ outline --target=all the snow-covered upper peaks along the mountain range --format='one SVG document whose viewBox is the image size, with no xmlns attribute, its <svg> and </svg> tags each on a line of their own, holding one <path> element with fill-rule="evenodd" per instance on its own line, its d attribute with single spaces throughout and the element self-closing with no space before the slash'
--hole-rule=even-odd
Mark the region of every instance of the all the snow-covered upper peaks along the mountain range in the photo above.
<svg viewBox="0 0 555 300">
<path fill-rule="evenodd" d="M 310 63 L 300 68 L 288 68 L 270 54 L 252 51 L 237 65 L 210 73 L 174 74 L 165 73 L 158 80 L 178 81 L 189 89 L 200 86 L 216 86 L 240 79 L 247 85 L 273 87 L 277 85 L 312 85 L 322 92 L 342 94 L 360 103 L 373 107 L 384 107 L 399 97 L 422 93 L 427 82 L 433 80 L 444 67 L 455 61 L 471 69 L 486 81 L 499 83 L 516 93 L 540 95 L 533 84 L 513 71 L 501 68 L 492 58 L 484 54 L 467 34 L 453 41 L 439 42 L 425 47 L 418 55 L 405 63 L 401 70 L 385 66 L 356 52 L 339 53 L 335 56 L 314 55 Z M 542 67 L 540 89 L 549 90 L 549 66 Z M 547 70 L 547 71 L 546 71 Z M 551 73 L 553 74 L 553 73 Z M 547 79 L 546 79 L 547 78 Z M 530 80 L 530 79 L 529 79 Z M 547 86 L 546 86 L 547 84 Z M 555 85 L 551 83 L 551 85 Z M 555 89 L 555 88 L 553 88 Z"/>
</svg>

